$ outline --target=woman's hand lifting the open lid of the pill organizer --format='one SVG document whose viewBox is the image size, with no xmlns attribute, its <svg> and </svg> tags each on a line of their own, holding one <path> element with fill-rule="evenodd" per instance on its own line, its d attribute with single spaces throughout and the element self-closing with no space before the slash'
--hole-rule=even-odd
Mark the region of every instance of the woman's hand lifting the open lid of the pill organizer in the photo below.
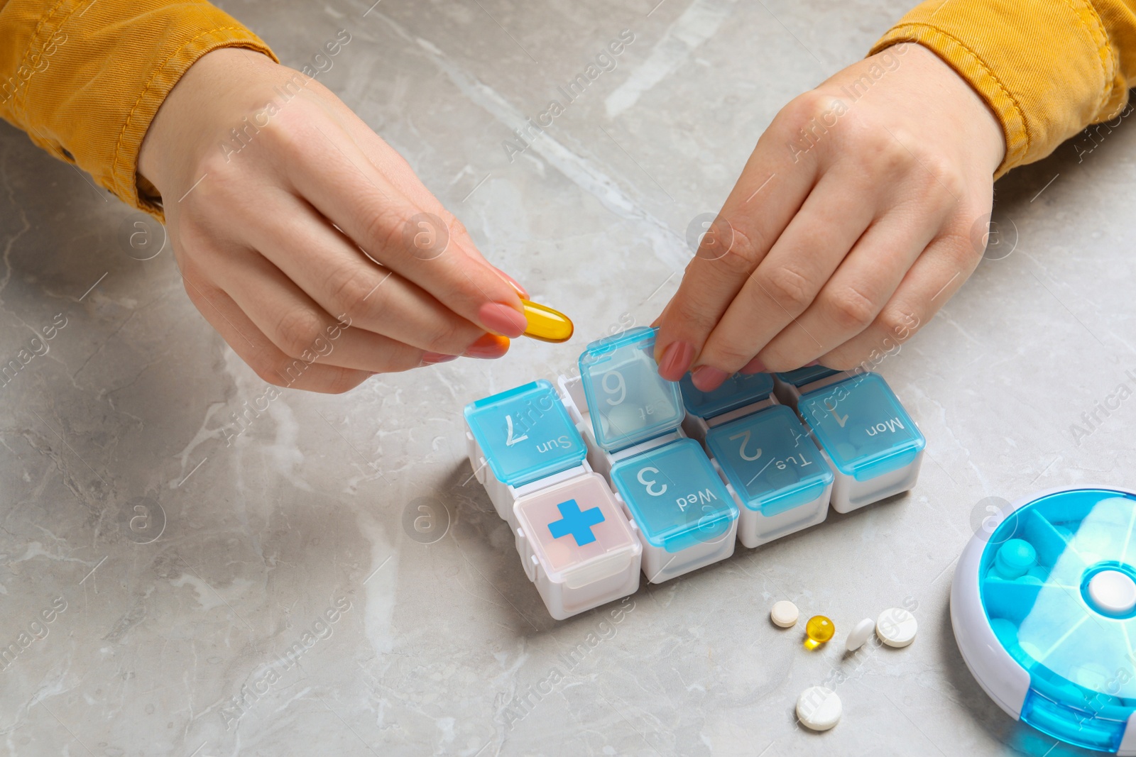
<svg viewBox="0 0 1136 757">
<path fill-rule="evenodd" d="M 926 48 L 899 44 L 788 103 L 660 318 L 659 372 L 695 386 L 902 343 L 982 258 L 1002 128 Z"/>
</svg>

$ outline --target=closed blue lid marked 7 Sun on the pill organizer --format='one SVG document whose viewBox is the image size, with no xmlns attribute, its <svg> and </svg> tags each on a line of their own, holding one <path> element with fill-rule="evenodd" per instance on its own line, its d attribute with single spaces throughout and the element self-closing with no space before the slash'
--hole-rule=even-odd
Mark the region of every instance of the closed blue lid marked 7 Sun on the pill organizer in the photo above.
<svg viewBox="0 0 1136 757">
<path fill-rule="evenodd" d="M 541 379 L 466 405 L 493 476 L 521 486 L 579 465 L 587 454 L 552 385 Z"/>
</svg>

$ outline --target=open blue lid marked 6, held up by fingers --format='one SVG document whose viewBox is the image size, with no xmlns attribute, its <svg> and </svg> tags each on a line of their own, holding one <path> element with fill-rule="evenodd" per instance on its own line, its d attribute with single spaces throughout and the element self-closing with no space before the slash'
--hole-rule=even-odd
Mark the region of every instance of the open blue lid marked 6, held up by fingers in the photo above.
<svg viewBox="0 0 1136 757">
<path fill-rule="evenodd" d="M 579 377 L 595 441 L 617 451 L 673 431 L 684 411 L 677 381 L 659 376 L 658 329 L 636 328 L 587 345 Z"/>
</svg>

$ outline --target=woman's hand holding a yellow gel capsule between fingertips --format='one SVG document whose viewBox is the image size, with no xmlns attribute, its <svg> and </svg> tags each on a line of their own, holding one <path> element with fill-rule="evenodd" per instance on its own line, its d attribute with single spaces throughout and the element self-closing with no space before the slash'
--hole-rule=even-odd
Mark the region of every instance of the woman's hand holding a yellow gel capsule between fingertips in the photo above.
<svg viewBox="0 0 1136 757">
<path fill-rule="evenodd" d="M 139 159 L 185 291 L 257 375 L 345 392 L 525 330 L 490 266 L 407 162 L 325 86 L 249 50 L 203 56 Z M 488 334 L 487 334 L 488 333 Z"/>
</svg>

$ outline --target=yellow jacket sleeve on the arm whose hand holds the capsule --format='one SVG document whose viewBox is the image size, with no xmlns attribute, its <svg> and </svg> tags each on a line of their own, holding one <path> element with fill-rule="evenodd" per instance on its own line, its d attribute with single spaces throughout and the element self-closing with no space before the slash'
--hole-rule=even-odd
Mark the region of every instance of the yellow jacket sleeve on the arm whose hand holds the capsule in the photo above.
<svg viewBox="0 0 1136 757">
<path fill-rule="evenodd" d="M 198 58 L 268 47 L 204 0 L 0 0 L 0 116 L 161 219 L 135 178 L 158 107 Z"/>
</svg>

